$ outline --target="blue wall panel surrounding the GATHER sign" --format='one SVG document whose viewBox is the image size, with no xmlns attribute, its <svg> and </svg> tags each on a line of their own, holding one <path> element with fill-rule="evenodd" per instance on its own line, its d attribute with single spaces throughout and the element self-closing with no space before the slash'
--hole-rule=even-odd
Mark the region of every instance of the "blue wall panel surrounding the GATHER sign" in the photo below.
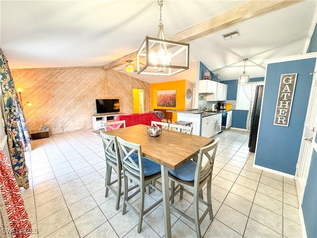
<svg viewBox="0 0 317 238">
<path fill-rule="evenodd" d="M 269 63 L 255 164 L 295 175 L 316 58 Z M 297 73 L 288 126 L 273 125 L 281 74 Z"/>
</svg>

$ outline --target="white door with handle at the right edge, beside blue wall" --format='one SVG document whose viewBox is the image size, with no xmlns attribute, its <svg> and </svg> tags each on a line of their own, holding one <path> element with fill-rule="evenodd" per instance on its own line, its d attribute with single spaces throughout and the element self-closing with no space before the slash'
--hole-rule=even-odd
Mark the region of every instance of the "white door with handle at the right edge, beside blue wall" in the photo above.
<svg viewBox="0 0 317 238">
<path fill-rule="evenodd" d="M 299 204 L 302 204 L 306 181 L 312 159 L 313 147 L 317 148 L 317 76 L 314 73 L 310 101 L 307 108 L 302 143 L 296 165 L 295 182 Z"/>
</svg>

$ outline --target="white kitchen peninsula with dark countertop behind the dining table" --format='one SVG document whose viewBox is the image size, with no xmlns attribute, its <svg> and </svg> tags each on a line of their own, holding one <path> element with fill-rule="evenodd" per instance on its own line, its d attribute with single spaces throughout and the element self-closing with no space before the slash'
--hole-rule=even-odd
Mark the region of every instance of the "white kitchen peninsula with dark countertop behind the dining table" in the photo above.
<svg viewBox="0 0 317 238">
<path fill-rule="evenodd" d="M 211 137 L 221 131 L 222 113 L 227 111 L 204 112 L 198 109 L 177 109 L 166 110 L 166 112 L 177 113 L 178 121 L 192 122 L 194 135 Z"/>
</svg>

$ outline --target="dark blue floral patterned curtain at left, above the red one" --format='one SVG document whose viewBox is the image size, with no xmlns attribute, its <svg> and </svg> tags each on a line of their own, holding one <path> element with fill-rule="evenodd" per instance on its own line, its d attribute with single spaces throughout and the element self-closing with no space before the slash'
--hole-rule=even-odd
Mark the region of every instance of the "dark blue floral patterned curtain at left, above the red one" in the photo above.
<svg viewBox="0 0 317 238">
<path fill-rule="evenodd" d="M 5 56 L 0 49 L 0 84 L 4 104 L 4 123 L 14 176 L 19 187 L 29 188 L 24 150 L 31 150 L 26 123 Z"/>
</svg>

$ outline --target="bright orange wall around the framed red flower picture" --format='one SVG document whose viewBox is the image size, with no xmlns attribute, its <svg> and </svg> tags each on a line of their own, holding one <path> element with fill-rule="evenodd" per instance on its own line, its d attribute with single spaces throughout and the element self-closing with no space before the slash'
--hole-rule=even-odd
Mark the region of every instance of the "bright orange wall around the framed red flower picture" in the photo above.
<svg viewBox="0 0 317 238">
<path fill-rule="evenodd" d="M 153 83 L 151 87 L 151 110 L 154 108 L 173 110 L 185 108 L 185 92 L 186 92 L 186 80 L 178 80 L 164 83 Z M 176 107 L 158 107 L 158 95 L 160 90 L 173 90 L 176 89 Z M 177 114 L 173 113 L 172 121 L 177 121 Z"/>
</svg>

